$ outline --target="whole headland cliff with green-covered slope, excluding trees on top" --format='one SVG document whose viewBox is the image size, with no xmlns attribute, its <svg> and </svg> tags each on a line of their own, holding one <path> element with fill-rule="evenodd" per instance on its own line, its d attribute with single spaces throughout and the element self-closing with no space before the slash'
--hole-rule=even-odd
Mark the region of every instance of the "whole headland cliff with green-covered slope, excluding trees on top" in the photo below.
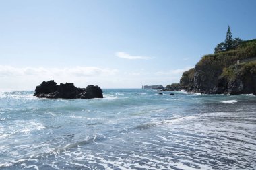
<svg viewBox="0 0 256 170">
<path fill-rule="evenodd" d="M 181 77 L 181 89 L 206 94 L 256 94 L 256 39 L 243 41 L 235 50 L 205 55 Z"/>
</svg>

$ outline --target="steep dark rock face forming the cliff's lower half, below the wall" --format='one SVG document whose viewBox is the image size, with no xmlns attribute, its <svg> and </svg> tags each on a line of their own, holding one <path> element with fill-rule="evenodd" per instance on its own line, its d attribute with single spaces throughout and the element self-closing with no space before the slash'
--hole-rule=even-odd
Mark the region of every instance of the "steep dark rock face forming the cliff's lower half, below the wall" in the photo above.
<svg viewBox="0 0 256 170">
<path fill-rule="evenodd" d="M 223 70 L 223 71 L 222 71 Z M 195 67 L 193 81 L 184 81 L 181 77 L 181 89 L 203 94 L 254 94 L 256 95 L 256 62 L 232 65 L 219 69 L 211 65 Z"/>
</svg>

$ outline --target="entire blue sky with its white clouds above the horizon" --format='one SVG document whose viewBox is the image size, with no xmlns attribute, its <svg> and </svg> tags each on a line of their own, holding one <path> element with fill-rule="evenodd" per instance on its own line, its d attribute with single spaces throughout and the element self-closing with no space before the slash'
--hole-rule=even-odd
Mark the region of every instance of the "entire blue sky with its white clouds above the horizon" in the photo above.
<svg viewBox="0 0 256 170">
<path fill-rule="evenodd" d="M 0 89 L 42 81 L 178 83 L 224 42 L 256 38 L 254 0 L 0 0 Z"/>
</svg>

